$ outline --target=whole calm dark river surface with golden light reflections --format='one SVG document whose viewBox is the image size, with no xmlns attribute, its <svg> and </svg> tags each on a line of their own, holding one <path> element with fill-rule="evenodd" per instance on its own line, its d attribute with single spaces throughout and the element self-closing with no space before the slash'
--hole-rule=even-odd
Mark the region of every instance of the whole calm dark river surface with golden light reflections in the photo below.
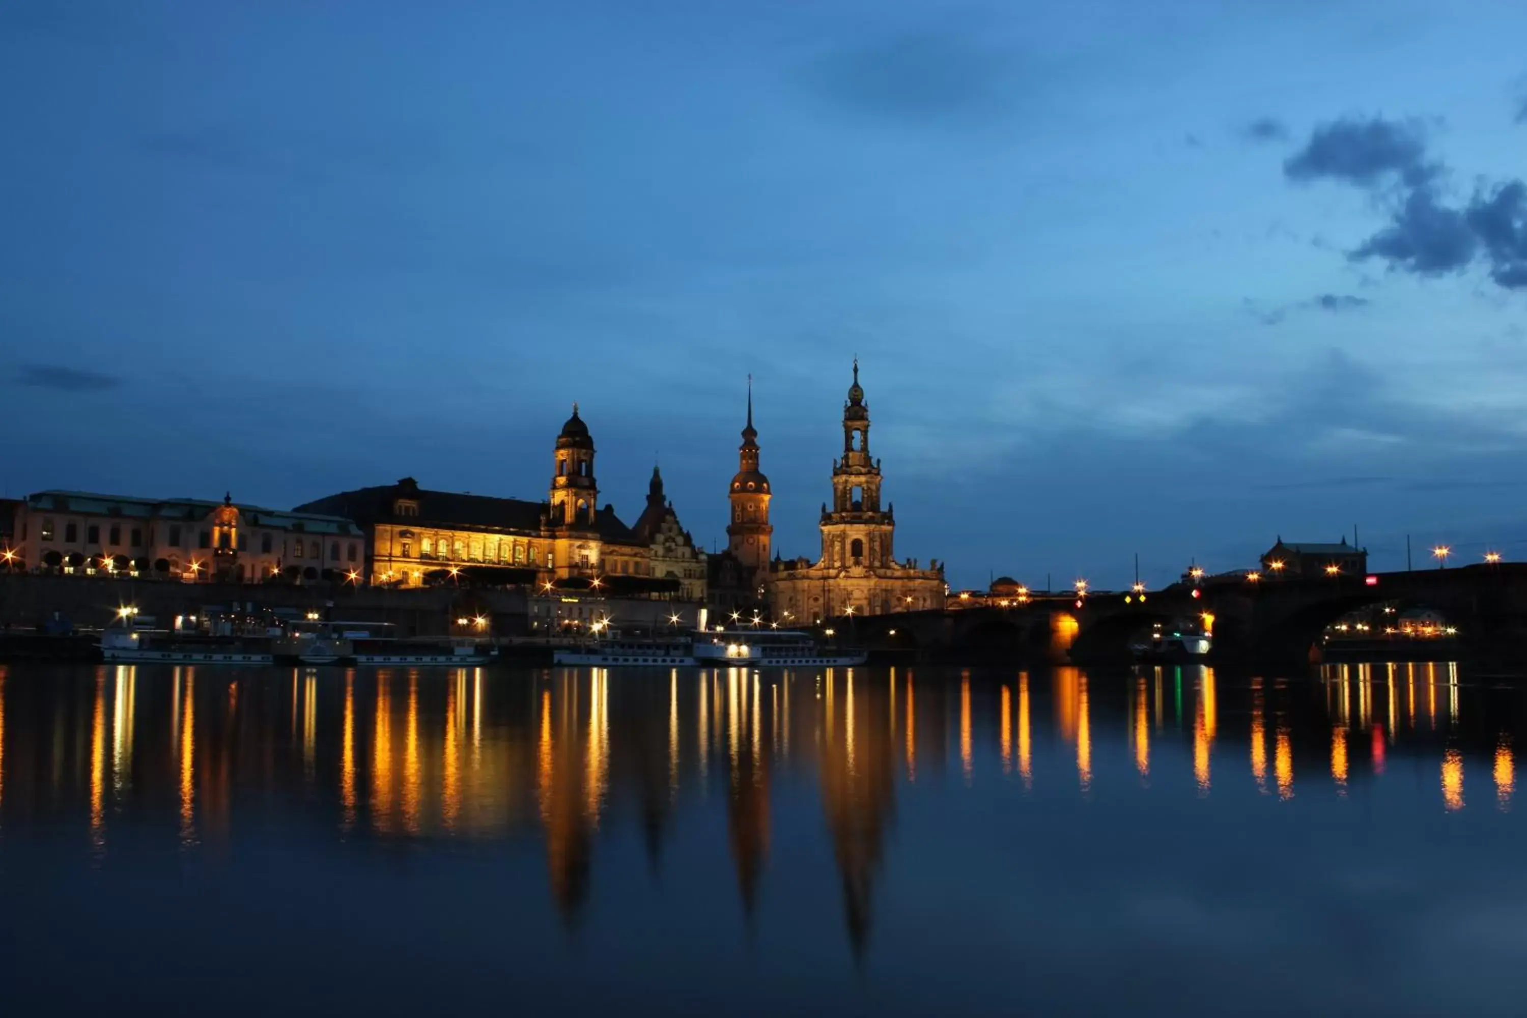
<svg viewBox="0 0 1527 1018">
<path fill-rule="evenodd" d="M 0 667 L 0 998 L 1521 1015 L 1524 704 L 1446 664 Z"/>
</svg>

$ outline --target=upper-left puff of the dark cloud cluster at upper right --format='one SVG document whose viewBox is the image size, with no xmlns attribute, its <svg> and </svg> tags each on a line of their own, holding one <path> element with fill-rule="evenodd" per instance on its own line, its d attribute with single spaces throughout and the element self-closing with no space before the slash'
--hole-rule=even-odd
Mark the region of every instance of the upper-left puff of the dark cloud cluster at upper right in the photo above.
<svg viewBox="0 0 1527 1018">
<path fill-rule="evenodd" d="M 1391 177 L 1408 188 L 1432 180 L 1440 166 L 1426 159 L 1426 136 L 1416 121 L 1342 119 L 1310 133 L 1304 148 L 1283 163 L 1289 180 L 1344 180 L 1362 188 Z"/>
</svg>

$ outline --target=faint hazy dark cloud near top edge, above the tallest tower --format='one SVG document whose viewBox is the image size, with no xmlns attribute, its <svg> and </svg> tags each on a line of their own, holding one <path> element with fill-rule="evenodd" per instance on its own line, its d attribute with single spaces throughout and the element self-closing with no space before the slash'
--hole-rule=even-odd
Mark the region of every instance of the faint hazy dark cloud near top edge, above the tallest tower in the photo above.
<svg viewBox="0 0 1527 1018">
<path fill-rule="evenodd" d="M 1012 60 L 956 31 L 898 35 L 831 53 L 808 69 L 829 101 L 913 124 L 989 119 L 1012 98 Z"/>
</svg>

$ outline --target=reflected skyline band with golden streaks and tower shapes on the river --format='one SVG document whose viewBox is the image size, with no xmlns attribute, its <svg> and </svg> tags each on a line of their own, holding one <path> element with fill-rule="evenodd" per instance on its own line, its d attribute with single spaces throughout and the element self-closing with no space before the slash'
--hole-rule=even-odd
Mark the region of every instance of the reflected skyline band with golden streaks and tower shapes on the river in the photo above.
<svg viewBox="0 0 1527 1018">
<path fill-rule="evenodd" d="M 1391 771 L 1408 780 L 1422 768 L 1438 812 L 1509 810 L 1515 716 L 1493 716 L 1486 687 L 1451 664 L 1330 665 L 1312 679 L 1206 667 L 1044 676 L 12 665 L 0 668 L 0 832 L 78 817 L 79 844 L 99 864 L 133 829 L 160 826 L 194 852 L 226 841 L 235 815 L 307 803 L 302 823 L 322 817 L 341 846 L 530 836 L 551 900 L 576 922 L 600 847 L 621 824 L 638 820 L 658 875 L 678 817 L 724 812 L 736 900 L 751 922 L 768 894 L 782 803 L 805 797 L 820 807 L 825 858 L 861 951 L 898 797 L 924 784 L 1011 797 L 1002 809 L 1026 797 L 1095 804 L 1182 791 L 1283 809 L 1296 791 L 1353 800 Z"/>
</svg>

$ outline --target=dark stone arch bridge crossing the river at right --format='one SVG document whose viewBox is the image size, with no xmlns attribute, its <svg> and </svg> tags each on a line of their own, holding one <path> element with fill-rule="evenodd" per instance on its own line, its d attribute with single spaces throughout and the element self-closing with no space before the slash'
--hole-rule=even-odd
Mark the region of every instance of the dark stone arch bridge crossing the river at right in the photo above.
<svg viewBox="0 0 1527 1018">
<path fill-rule="evenodd" d="M 1214 617 L 1217 659 L 1307 661 L 1342 615 L 1380 603 L 1431 607 L 1464 650 L 1527 647 L 1527 563 L 1321 578 L 1212 578 L 1162 591 L 1035 595 L 1011 607 L 945 609 L 837 620 L 840 638 L 876 650 L 1099 664 L 1128 658 L 1153 623 Z"/>
</svg>

